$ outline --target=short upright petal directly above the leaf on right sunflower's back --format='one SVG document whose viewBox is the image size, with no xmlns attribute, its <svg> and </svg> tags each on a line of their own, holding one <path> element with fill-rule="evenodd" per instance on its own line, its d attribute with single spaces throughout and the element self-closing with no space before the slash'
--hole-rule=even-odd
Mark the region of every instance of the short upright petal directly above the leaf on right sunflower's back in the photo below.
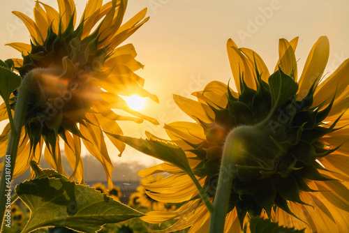
<svg viewBox="0 0 349 233">
<path fill-rule="evenodd" d="M 280 66 L 283 73 L 286 75 L 291 76 L 292 74 L 292 77 L 294 77 L 295 81 L 297 82 L 297 61 L 295 51 L 288 40 L 279 40 L 279 64 L 276 66 Z"/>
</svg>

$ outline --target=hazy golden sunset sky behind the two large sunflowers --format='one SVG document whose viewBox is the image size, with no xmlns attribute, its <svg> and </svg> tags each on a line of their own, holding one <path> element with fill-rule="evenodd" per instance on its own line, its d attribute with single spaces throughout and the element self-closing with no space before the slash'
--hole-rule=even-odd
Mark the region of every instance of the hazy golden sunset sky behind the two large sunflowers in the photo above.
<svg viewBox="0 0 349 233">
<path fill-rule="evenodd" d="M 55 0 L 43 2 L 57 6 Z M 78 17 L 85 2 L 75 0 Z M 29 42 L 26 27 L 11 11 L 32 17 L 33 7 L 32 0 L 1 3 L 0 59 L 20 57 L 5 43 Z M 191 121 L 174 105 L 172 94 L 188 97 L 212 80 L 228 83 L 232 78 L 225 48 L 228 38 L 239 47 L 258 52 L 271 73 L 279 58 L 279 38 L 291 40 L 299 36 L 296 50 L 299 73 L 320 36 L 328 36 L 330 44 L 325 73 L 332 73 L 349 57 L 349 1 L 346 0 L 129 0 L 126 18 L 143 8 L 148 8 L 150 20 L 126 43 L 133 43 L 138 61 L 145 65 L 144 70 L 138 71 L 145 79 L 144 88 L 160 100 L 160 104 L 147 100 L 147 106 L 140 112 L 158 119 L 161 126 L 121 122 L 121 128 L 129 136 L 144 137 L 144 130 L 148 130 L 165 137 L 163 123 Z M 116 151 L 114 154 L 111 150 L 114 161 L 156 163 L 133 149 L 126 149 L 121 158 L 117 158 Z"/>
</svg>

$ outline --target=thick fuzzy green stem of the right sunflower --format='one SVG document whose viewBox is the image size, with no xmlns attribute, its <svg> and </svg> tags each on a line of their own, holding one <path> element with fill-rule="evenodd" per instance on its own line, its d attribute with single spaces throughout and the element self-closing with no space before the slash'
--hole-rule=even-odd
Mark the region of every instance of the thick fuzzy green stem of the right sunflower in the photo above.
<svg viewBox="0 0 349 233">
<path fill-rule="evenodd" d="M 235 160 L 232 153 L 239 151 L 239 140 L 236 140 L 236 134 L 232 130 L 225 140 L 221 168 L 218 176 L 218 186 L 214 197 L 214 208 L 211 212 L 209 222 L 209 233 L 223 233 L 225 217 L 227 215 L 230 193 L 232 190 L 232 181 L 234 177 Z"/>
</svg>

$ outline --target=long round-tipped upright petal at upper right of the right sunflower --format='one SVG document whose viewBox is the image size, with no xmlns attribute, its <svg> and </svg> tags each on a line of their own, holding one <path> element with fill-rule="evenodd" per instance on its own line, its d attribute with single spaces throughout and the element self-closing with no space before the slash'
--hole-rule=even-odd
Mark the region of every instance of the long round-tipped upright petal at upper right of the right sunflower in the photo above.
<svg viewBox="0 0 349 233">
<path fill-rule="evenodd" d="M 329 57 L 329 41 L 326 36 L 321 36 L 311 48 L 301 77 L 299 78 L 299 94 L 297 100 L 302 100 L 315 82 L 317 85 L 326 68 Z"/>
</svg>

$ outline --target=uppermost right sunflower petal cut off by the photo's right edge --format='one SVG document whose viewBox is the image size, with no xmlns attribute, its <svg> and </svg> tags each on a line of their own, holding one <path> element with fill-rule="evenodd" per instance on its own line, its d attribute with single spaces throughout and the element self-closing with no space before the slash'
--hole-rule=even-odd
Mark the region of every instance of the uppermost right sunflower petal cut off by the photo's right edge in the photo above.
<svg viewBox="0 0 349 233">
<path fill-rule="evenodd" d="M 315 91 L 313 106 L 318 106 L 326 100 L 329 102 L 334 97 L 341 96 L 349 85 L 349 59 L 343 61 L 332 75 L 322 82 Z M 334 105 L 336 107 L 336 105 Z"/>
</svg>

